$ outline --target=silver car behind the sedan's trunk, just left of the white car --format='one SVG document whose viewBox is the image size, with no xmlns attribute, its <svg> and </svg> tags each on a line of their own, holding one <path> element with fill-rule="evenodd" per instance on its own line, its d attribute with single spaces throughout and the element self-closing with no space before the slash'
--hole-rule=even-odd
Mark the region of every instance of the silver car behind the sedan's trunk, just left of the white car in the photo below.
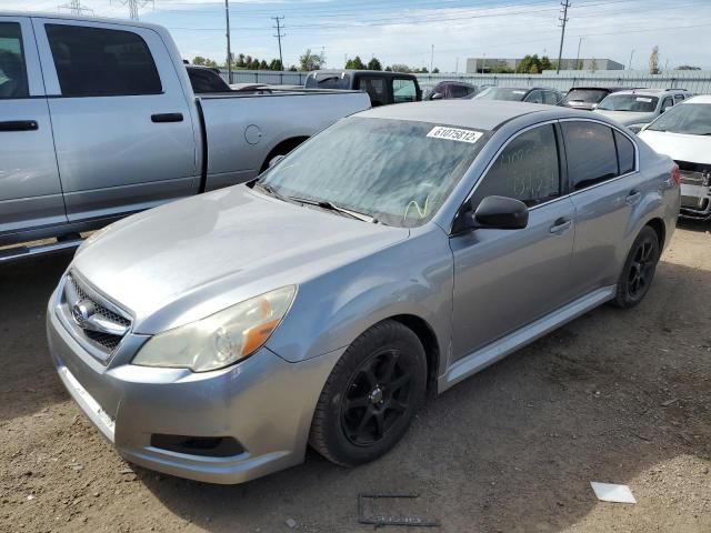
<svg viewBox="0 0 711 533">
<path fill-rule="evenodd" d="M 630 89 L 608 94 L 594 112 L 638 133 L 657 117 L 691 97 L 684 89 Z"/>
</svg>

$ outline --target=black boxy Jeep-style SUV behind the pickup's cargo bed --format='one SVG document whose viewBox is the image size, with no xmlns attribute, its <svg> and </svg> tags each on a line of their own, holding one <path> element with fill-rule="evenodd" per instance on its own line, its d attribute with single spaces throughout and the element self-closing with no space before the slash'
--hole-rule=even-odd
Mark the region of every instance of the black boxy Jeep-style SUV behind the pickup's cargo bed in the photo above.
<svg viewBox="0 0 711 533">
<path fill-rule="evenodd" d="M 422 90 L 414 74 L 380 70 L 316 70 L 309 72 L 304 89 L 365 91 L 373 108 L 390 103 L 419 102 Z"/>
</svg>

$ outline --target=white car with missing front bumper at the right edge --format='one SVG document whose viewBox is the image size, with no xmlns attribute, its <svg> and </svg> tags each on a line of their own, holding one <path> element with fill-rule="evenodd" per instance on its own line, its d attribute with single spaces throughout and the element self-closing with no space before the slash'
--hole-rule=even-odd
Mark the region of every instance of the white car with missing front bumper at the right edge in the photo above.
<svg viewBox="0 0 711 533">
<path fill-rule="evenodd" d="M 711 95 L 693 97 L 639 137 L 681 170 L 681 215 L 711 220 Z"/>
</svg>

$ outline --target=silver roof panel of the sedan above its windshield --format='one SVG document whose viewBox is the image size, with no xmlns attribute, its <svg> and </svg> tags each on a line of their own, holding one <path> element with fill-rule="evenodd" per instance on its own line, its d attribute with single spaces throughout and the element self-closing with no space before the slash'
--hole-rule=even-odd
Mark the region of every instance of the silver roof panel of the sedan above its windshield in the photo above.
<svg viewBox="0 0 711 533">
<path fill-rule="evenodd" d="M 397 105 L 373 108 L 358 113 L 358 117 L 412 120 L 478 130 L 493 130 L 499 124 L 517 117 L 544 112 L 555 117 L 590 117 L 589 112 L 558 105 L 500 100 L 439 100 L 434 102 L 399 103 Z"/>
</svg>

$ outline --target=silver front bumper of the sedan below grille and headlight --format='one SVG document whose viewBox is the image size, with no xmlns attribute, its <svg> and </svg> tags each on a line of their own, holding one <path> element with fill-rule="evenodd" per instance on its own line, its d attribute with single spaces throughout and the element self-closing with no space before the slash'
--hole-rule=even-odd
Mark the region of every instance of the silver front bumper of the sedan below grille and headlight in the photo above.
<svg viewBox="0 0 711 533">
<path fill-rule="evenodd" d="M 262 348 L 213 372 L 102 364 L 64 328 L 50 299 L 47 333 L 59 376 L 84 414 L 128 461 L 210 483 L 241 483 L 303 461 L 311 419 L 341 350 L 289 363 Z M 179 453 L 154 435 L 231 438 L 229 456 Z"/>
</svg>

